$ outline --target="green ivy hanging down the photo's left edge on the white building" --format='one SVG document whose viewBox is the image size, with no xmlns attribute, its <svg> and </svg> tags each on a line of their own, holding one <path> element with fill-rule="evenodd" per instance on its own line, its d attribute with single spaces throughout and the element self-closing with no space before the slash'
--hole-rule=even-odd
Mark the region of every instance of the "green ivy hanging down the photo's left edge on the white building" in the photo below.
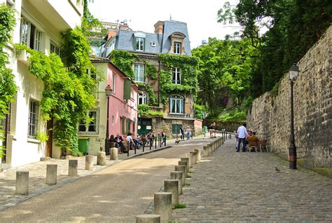
<svg viewBox="0 0 332 223">
<path fill-rule="evenodd" d="M 8 114 L 8 107 L 14 100 L 17 86 L 15 76 L 11 69 L 6 65 L 9 64 L 8 53 L 4 51 L 8 41 L 11 39 L 11 31 L 16 25 L 15 11 L 6 6 L 0 5 L 0 120 Z M 4 130 L 0 127 L 0 140 L 4 139 Z M 5 146 L 0 146 L 0 158 L 4 156 Z"/>
</svg>

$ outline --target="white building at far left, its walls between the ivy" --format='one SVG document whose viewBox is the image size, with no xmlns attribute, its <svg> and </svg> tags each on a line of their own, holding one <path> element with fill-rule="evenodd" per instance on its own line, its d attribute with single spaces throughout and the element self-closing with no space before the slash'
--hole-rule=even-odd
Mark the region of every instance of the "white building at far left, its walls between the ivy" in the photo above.
<svg viewBox="0 0 332 223">
<path fill-rule="evenodd" d="M 83 0 L 0 0 L 18 11 L 13 31 L 13 43 L 23 43 L 43 53 L 61 54 L 61 32 L 81 25 Z M 37 131 L 45 132 L 51 122 L 41 119 L 39 104 L 43 82 L 29 73 L 26 54 L 15 55 L 13 46 L 6 50 L 11 55 L 11 69 L 15 74 L 18 93 L 11 104 L 7 121 L 6 156 L 3 168 L 39 161 L 41 157 L 58 157 L 52 137 L 45 145 L 36 140 Z M 52 133 L 48 133 L 52 135 Z"/>
</svg>

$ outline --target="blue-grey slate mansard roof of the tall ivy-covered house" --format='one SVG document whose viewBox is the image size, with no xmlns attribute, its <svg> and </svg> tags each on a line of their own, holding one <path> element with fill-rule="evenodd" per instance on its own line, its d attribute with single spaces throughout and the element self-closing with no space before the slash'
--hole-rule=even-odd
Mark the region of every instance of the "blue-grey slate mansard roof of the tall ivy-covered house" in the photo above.
<svg viewBox="0 0 332 223">
<path fill-rule="evenodd" d="M 122 30 L 116 34 L 115 48 L 119 50 L 136 51 L 134 48 L 134 33 L 137 31 Z M 189 34 L 186 22 L 179 22 L 174 20 L 164 21 L 164 29 L 162 34 L 147 33 L 145 39 L 145 50 L 137 51 L 141 53 L 169 53 L 171 50 L 170 35 L 174 32 L 181 32 L 186 37 L 184 38 L 184 50 L 186 55 L 191 55 L 191 45 L 189 41 Z M 151 42 L 155 42 L 156 46 L 151 46 Z"/>
</svg>

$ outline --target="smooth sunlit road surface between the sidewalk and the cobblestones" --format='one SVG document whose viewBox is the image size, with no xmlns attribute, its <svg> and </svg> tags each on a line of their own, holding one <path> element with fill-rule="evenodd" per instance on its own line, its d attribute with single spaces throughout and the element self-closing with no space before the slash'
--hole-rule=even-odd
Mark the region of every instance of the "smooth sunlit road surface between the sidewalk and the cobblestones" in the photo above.
<svg viewBox="0 0 332 223">
<path fill-rule="evenodd" d="M 134 222 L 179 158 L 206 140 L 184 141 L 113 165 L 0 212 L 0 222 Z"/>
</svg>

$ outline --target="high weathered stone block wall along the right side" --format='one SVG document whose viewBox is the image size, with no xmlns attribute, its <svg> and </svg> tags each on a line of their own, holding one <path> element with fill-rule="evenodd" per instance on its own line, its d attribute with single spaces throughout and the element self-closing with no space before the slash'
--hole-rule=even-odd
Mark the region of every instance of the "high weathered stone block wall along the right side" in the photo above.
<svg viewBox="0 0 332 223">
<path fill-rule="evenodd" d="M 332 26 L 298 62 L 294 82 L 294 133 L 298 159 L 313 159 L 314 167 L 332 168 Z M 278 95 L 254 100 L 247 128 L 268 139 L 272 151 L 288 159 L 290 133 L 289 74 Z"/>
</svg>

